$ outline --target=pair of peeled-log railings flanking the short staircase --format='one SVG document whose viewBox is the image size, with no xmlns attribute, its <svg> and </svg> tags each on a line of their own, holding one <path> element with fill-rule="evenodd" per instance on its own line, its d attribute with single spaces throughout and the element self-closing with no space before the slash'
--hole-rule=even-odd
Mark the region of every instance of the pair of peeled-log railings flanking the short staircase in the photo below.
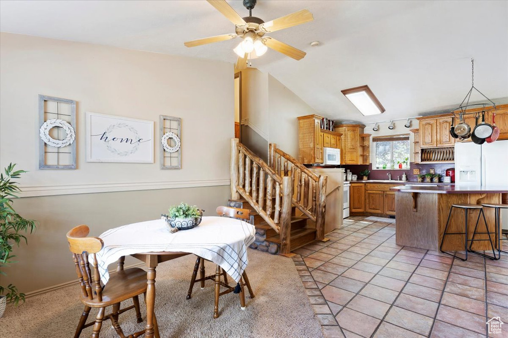
<svg viewBox="0 0 508 338">
<path fill-rule="evenodd" d="M 315 222 L 316 239 L 324 238 L 327 176 L 315 175 L 273 143 L 270 144 L 269 162 L 271 165 L 253 154 L 237 138 L 231 139 L 231 198 L 242 196 L 279 234 L 279 252 L 289 254 L 293 204 Z"/>
</svg>

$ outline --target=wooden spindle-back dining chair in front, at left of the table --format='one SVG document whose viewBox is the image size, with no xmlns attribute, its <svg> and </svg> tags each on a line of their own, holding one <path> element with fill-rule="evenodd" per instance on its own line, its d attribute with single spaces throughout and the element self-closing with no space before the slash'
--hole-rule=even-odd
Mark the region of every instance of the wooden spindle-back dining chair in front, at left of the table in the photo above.
<svg viewBox="0 0 508 338">
<path fill-rule="evenodd" d="M 146 293 L 146 271 L 139 268 L 130 268 L 123 270 L 124 257 L 117 261 L 116 273 L 112 274 L 106 285 L 101 284 L 101 275 L 99 273 L 96 253 L 99 252 L 104 243 L 98 237 L 87 237 L 89 228 L 85 225 L 77 226 L 67 233 L 69 249 L 72 252 L 76 273 L 81 286 L 80 300 L 85 305 L 85 309 L 78 323 L 78 328 L 74 338 L 78 338 L 81 331 L 88 326 L 93 325 L 92 338 L 98 338 L 104 318 L 110 319 L 116 333 L 124 338 L 125 335 L 118 324 L 118 315 L 135 309 L 137 322 L 141 323 L 141 312 L 139 309 L 138 295 Z M 93 276 L 91 275 L 90 262 L 88 256 L 91 254 L 91 265 Z M 134 305 L 120 309 L 120 303 L 132 298 Z M 110 314 L 105 315 L 106 307 L 112 306 Z M 99 312 L 94 321 L 86 323 L 91 308 L 99 308 Z M 154 319 L 154 330 L 158 333 L 157 322 Z M 129 337 L 138 337 L 145 330 L 133 333 Z"/>
</svg>

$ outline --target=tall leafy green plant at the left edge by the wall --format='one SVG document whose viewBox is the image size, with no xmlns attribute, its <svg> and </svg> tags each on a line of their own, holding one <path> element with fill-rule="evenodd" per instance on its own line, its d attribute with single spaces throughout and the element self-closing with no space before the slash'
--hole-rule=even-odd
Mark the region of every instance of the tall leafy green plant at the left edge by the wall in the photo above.
<svg viewBox="0 0 508 338">
<path fill-rule="evenodd" d="M 20 177 L 24 170 L 14 171 L 15 164 L 9 164 L 5 168 L 5 175 L 0 174 L 0 267 L 8 267 L 15 263 L 15 255 L 12 254 L 13 245 L 19 247 L 21 241 L 27 242 L 24 233 L 33 233 L 36 229 L 35 220 L 25 219 L 12 207 L 13 199 L 18 198 L 17 193 L 21 192 L 18 183 L 13 181 Z M 0 274 L 6 275 L 0 271 Z M 4 295 L 5 293 L 5 295 Z M 9 284 L 7 287 L 0 286 L 0 295 L 5 297 L 9 303 L 18 305 L 21 301 L 24 303 L 25 294 L 18 292 L 16 286 Z"/>
</svg>

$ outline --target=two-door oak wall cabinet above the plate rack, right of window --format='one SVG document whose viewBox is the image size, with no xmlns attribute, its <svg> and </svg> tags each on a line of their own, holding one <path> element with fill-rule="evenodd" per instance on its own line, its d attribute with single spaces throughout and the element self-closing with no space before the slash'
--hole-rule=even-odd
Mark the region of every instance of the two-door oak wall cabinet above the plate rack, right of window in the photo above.
<svg viewBox="0 0 508 338">
<path fill-rule="evenodd" d="M 455 144 L 455 138 L 450 135 L 452 127 L 451 115 L 428 116 L 420 120 L 419 136 L 421 148 L 450 147 Z"/>
</svg>

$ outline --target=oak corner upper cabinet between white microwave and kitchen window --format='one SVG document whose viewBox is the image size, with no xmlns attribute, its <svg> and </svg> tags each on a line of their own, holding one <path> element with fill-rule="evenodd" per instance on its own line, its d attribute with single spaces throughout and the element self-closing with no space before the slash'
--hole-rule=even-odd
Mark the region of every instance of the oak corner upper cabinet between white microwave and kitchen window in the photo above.
<svg viewBox="0 0 508 338">
<path fill-rule="evenodd" d="M 342 134 L 340 139 L 340 162 L 342 164 L 368 164 L 368 156 L 361 151 L 360 134 L 363 134 L 364 125 L 338 125 L 334 130 Z M 367 135 L 367 134 L 363 134 Z"/>
</svg>

